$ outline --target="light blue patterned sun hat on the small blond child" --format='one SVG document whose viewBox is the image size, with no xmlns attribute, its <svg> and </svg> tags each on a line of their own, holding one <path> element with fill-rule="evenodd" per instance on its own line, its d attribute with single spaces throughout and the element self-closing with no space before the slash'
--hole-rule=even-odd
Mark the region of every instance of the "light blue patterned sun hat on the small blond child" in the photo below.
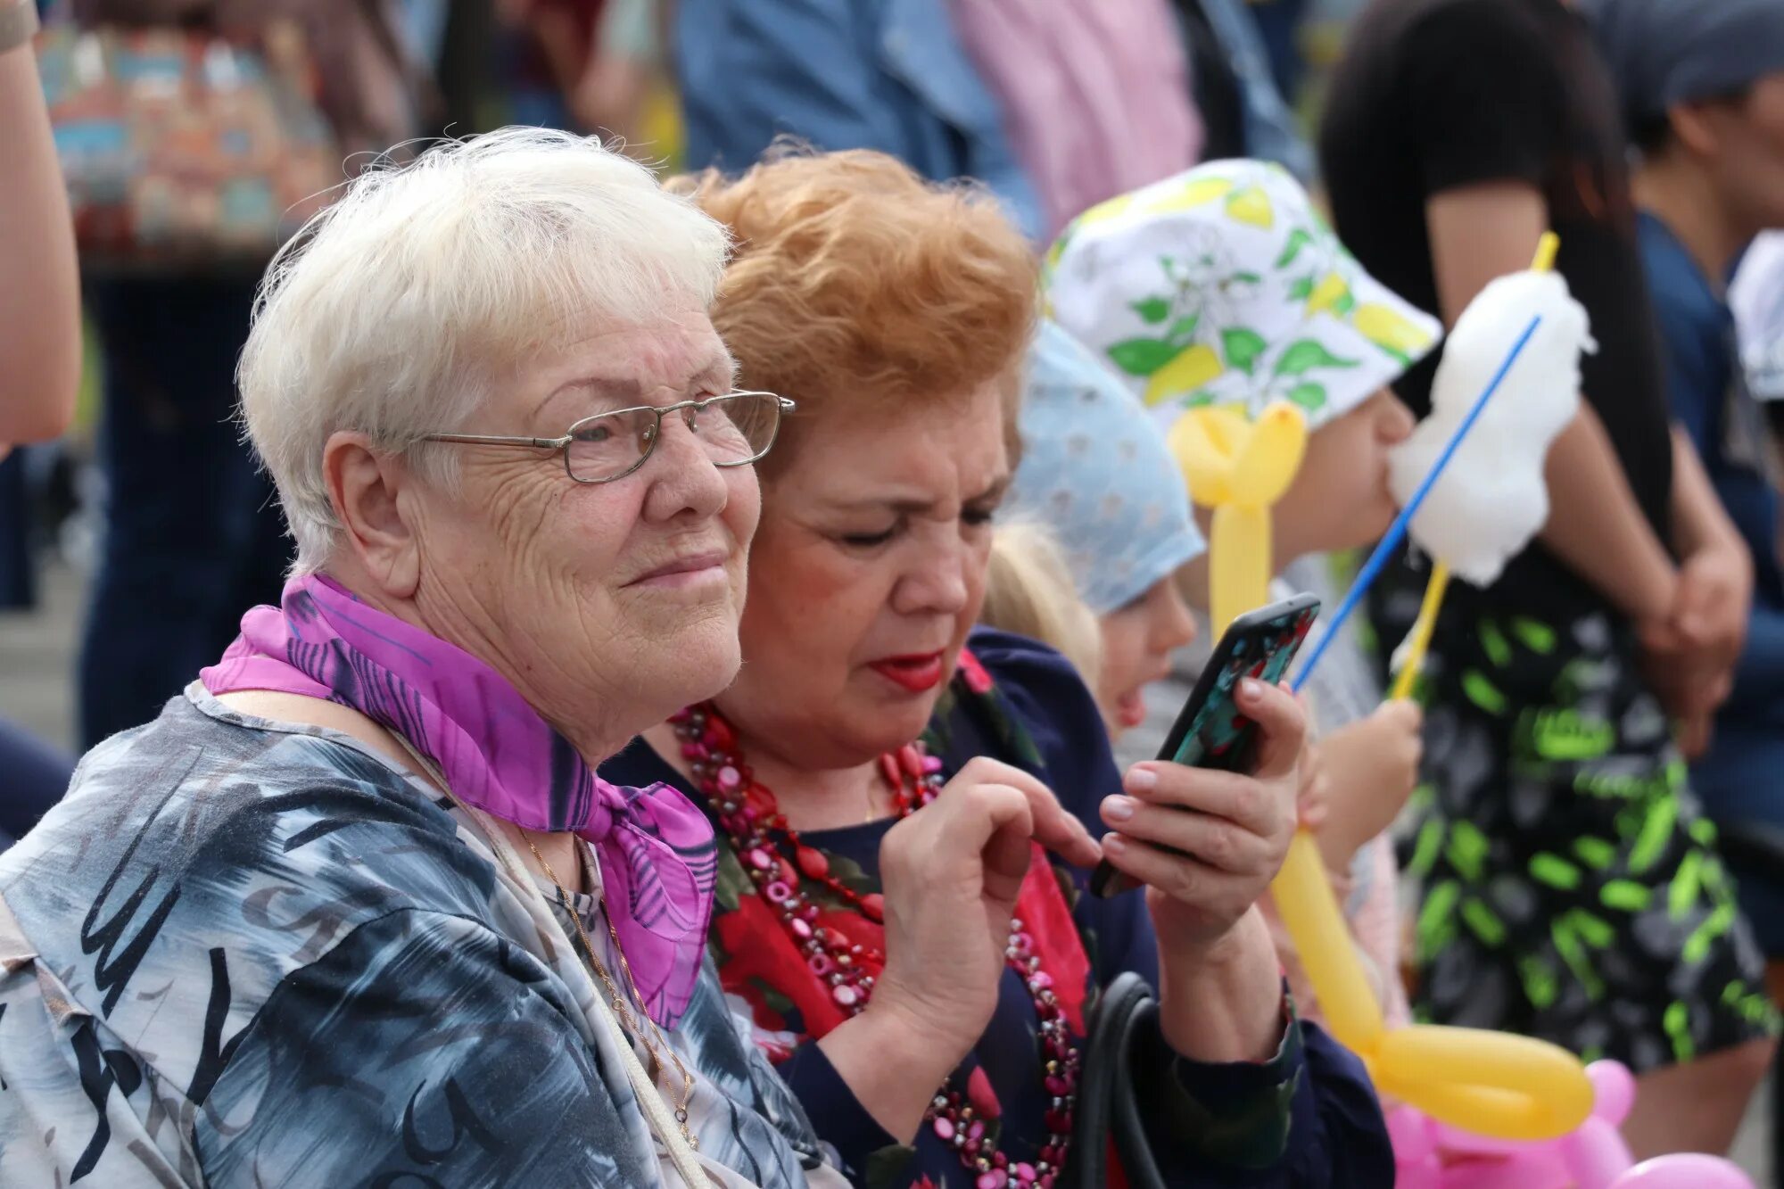
<svg viewBox="0 0 1784 1189">
<path fill-rule="evenodd" d="M 1053 321 L 1028 353 L 1020 425 L 1022 464 L 1004 509 L 1053 528 L 1078 594 L 1099 616 L 1208 548 L 1158 423 Z"/>
</svg>

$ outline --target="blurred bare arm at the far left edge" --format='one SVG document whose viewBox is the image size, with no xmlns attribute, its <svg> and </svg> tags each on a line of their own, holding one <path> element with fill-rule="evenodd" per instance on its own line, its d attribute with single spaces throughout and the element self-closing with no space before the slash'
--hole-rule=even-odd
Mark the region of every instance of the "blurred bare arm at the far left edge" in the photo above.
<svg viewBox="0 0 1784 1189">
<path fill-rule="evenodd" d="M 0 0 L 4 2 L 4 0 Z M 68 193 L 30 46 L 0 54 L 0 443 L 68 428 L 80 386 L 80 280 Z"/>
</svg>

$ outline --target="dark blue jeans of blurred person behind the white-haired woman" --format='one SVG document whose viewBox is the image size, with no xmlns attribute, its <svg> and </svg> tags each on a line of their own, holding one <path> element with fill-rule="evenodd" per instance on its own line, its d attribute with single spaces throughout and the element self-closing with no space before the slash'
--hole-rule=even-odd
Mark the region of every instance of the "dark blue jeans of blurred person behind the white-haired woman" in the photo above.
<svg viewBox="0 0 1784 1189">
<path fill-rule="evenodd" d="M 105 532 L 80 648 L 80 739 L 150 721 L 278 602 L 289 559 L 273 486 L 241 441 L 246 280 L 93 286 L 105 350 Z"/>
</svg>

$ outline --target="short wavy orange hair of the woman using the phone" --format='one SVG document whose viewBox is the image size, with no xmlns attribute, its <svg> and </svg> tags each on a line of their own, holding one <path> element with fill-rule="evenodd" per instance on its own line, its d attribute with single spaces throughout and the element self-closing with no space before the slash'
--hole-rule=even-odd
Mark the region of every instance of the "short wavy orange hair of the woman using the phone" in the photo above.
<svg viewBox="0 0 1784 1189">
<path fill-rule="evenodd" d="M 1015 445 L 1038 270 L 988 191 L 926 182 L 880 152 L 794 146 L 669 189 L 737 241 L 712 321 L 740 382 L 799 402 L 765 477 L 831 411 L 960 400 L 987 382 L 1001 382 Z"/>
</svg>

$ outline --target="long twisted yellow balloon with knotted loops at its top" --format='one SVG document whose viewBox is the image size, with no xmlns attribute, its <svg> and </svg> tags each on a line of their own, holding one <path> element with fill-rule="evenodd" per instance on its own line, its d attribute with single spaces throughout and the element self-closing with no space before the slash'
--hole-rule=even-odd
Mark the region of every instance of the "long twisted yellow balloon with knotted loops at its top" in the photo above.
<svg viewBox="0 0 1784 1189">
<path fill-rule="evenodd" d="M 1268 405 L 1256 421 L 1238 409 L 1192 409 L 1170 430 L 1192 498 L 1213 509 L 1208 553 L 1217 630 L 1268 602 L 1270 507 L 1293 482 L 1306 439 L 1306 420 L 1286 402 Z M 1563 1048 L 1475 1028 L 1386 1030 L 1309 834 L 1290 844 L 1270 891 L 1331 1034 L 1363 1059 L 1383 1094 L 1495 1139 L 1556 1139 L 1586 1121 L 1591 1082 Z"/>
</svg>

